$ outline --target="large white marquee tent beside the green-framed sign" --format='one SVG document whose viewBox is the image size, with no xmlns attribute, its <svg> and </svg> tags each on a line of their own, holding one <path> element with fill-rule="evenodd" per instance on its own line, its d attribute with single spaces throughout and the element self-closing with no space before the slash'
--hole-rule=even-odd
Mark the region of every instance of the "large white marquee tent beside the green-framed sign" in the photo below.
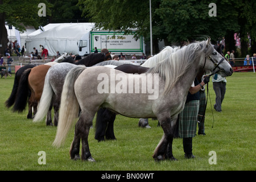
<svg viewBox="0 0 256 182">
<path fill-rule="evenodd" d="M 53 23 L 44 26 L 44 32 L 36 30 L 28 35 L 26 39 L 27 52 L 34 51 L 35 47 L 39 51 L 42 45 L 48 49 L 49 56 L 69 52 L 78 53 L 77 42 L 82 35 L 91 31 L 94 23 Z"/>
</svg>

